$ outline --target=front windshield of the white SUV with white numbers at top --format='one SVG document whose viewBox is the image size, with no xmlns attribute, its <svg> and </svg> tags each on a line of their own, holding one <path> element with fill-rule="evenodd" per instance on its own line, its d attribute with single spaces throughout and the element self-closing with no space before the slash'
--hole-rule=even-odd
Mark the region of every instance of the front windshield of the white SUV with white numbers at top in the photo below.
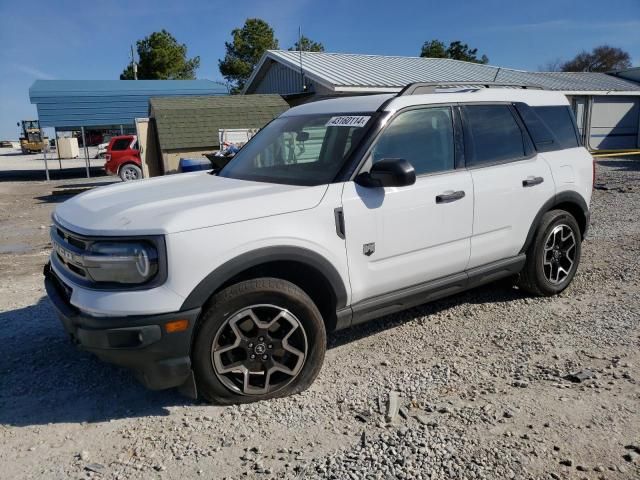
<svg viewBox="0 0 640 480">
<path fill-rule="evenodd" d="M 277 118 L 258 132 L 218 175 L 289 185 L 331 183 L 372 118 L 371 113 Z"/>
</svg>

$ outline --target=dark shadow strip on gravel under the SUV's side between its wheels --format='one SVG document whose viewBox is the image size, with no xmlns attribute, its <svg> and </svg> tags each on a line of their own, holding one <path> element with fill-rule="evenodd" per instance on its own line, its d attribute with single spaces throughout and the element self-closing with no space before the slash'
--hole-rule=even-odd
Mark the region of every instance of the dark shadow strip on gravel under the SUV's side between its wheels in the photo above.
<svg viewBox="0 0 640 480">
<path fill-rule="evenodd" d="M 513 287 L 508 281 L 499 281 L 466 292 L 425 303 L 395 314 L 356 325 L 352 328 L 329 334 L 328 348 L 336 348 L 350 342 L 375 335 L 421 317 L 428 317 L 463 303 L 502 303 L 527 298 L 528 295 Z M 428 318 L 427 318 L 428 320 Z"/>
</svg>

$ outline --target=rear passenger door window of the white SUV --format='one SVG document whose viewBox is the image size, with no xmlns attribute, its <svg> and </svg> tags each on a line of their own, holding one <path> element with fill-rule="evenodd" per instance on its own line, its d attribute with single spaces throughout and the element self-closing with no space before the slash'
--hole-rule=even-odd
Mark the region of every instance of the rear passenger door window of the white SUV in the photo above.
<svg viewBox="0 0 640 480">
<path fill-rule="evenodd" d="M 525 156 L 522 131 L 507 105 L 467 105 L 464 115 L 473 145 L 473 155 L 467 158 L 467 165 Z"/>
</svg>

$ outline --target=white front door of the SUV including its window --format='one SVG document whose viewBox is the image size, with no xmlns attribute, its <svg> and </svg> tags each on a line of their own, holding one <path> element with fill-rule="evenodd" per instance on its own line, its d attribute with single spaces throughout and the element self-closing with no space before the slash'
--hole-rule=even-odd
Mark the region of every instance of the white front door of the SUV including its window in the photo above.
<svg viewBox="0 0 640 480">
<path fill-rule="evenodd" d="M 383 158 L 403 158 L 415 168 L 416 183 L 386 188 L 345 183 L 352 304 L 465 270 L 473 184 L 468 171 L 455 168 L 455 123 L 449 106 L 397 114 L 375 141 L 363 171 Z"/>
</svg>

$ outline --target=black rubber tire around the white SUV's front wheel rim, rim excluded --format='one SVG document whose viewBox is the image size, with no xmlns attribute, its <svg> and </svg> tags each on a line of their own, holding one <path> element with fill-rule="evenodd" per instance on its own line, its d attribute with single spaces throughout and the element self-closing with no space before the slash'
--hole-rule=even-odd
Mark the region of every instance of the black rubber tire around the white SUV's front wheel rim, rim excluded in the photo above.
<svg viewBox="0 0 640 480">
<path fill-rule="evenodd" d="M 238 388 L 242 388 L 241 386 L 235 389 L 233 386 L 229 386 L 230 383 L 239 381 L 236 376 L 240 374 L 223 375 L 217 372 L 214 366 L 214 342 L 217 341 L 218 335 L 228 333 L 229 330 L 225 329 L 231 328 L 230 323 L 237 317 L 238 312 L 259 305 L 274 306 L 290 312 L 295 317 L 299 322 L 296 335 L 304 335 L 306 344 L 306 352 L 304 353 L 306 355 L 302 366 L 298 367 L 297 374 L 288 381 L 283 380 L 283 385 L 266 393 L 246 394 L 238 390 Z M 238 325 L 240 324 L 241 322 L 238 322 Z M 249 362 L 248 355 L 253 353 L 253 350 L 248 348 L 249 344 L 243 343 L 243 345 L 236 348 L 240 350 L 241 355 L 247 356 L 244 361 Z M 230 405 L 284 397 L 302 392 L 313 383 L 320 373 L 326 346 L 327 335 L 322 315 L 302 289 L 291 282 L 277 278 L 258 278 L 237 283 L 212 298 L 203 310 L 198 323 L 192 350 L 192 364 L 198 393 L 212 403 Z M 255 346 L 255 349 L 257 348 L 258 345 Z M 246 353 L 243 353 L 245 350 Z M 275 358 L 276 350 L 267 353 L 273 353 Z M 264 368 L 266 372 L 267 366 Z M 283 376 L 277 372 L 275 375 Z M 265 378 L 270 377 L 267 374 Z"/>
</svg>

